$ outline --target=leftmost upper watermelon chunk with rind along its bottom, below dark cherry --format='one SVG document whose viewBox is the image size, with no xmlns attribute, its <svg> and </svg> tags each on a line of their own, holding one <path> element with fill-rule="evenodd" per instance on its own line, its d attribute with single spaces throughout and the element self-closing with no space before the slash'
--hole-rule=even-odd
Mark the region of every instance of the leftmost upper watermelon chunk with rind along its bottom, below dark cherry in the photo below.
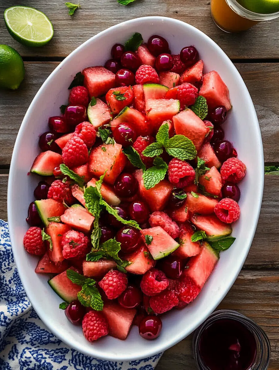
<svg viewBox="0 0 279 370">
<path fill-rule="evenodd" d="M 47 150 L 37 155 L 30 172 L 41 176 L 52 176 L 54 168 L 59 167 L 62 163 L 62 155 Z"/>
</svg>

